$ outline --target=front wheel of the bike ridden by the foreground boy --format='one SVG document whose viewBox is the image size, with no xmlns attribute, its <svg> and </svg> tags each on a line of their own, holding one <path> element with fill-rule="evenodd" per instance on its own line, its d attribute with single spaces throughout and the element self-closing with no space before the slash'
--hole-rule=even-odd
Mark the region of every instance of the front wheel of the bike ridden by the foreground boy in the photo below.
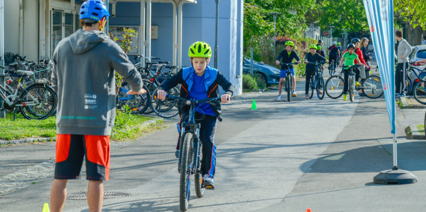
<svg viewBox="0 0 426 212">
<path fill-rule="evenodd" d="M 192 166 L 192 133 L 184 135 L 182 144 L 182 153 L 180 160 L 180 185 L 179 185 L 179 205 L 181 211 L 188 210 L 189 207 L 189 188 L 191 185 L 191 166 Z"/>
</svg>

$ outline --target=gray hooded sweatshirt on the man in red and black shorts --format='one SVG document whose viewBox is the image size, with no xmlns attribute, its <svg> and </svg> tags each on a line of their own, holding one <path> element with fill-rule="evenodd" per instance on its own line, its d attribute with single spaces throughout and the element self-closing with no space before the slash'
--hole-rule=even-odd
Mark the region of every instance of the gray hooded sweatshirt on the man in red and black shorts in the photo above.
<svg viewBox="0 0 426 212">
<path fill-rule="evenodd" d="M 77 30 L 53 53 L 58 134 L 111 135 L 116 116 L 115 71 L 132 90 L 143 84 L 121 47 L 102 31 Z M 114 71 L 115 70 L 115 71 Z"/>
</svg>

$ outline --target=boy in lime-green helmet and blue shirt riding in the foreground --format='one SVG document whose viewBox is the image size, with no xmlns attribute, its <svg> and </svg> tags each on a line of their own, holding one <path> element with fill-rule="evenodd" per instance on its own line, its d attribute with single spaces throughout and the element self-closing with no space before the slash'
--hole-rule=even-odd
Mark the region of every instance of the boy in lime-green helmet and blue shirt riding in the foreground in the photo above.
<svg viewBox="0 0 426 212">
<path fill-rule="evenodd" d="M 206 99 L 219 96 L 220 85 L 225 94 L 221 96 L 221 102 L 231 101 L 231 96 L 235 92 L 235 87 L 215 68 L 208 66 L 212 56 L 212 50 L 209 44 L 197 41 L 189 46 L 188 56 L 192 67 L 181 69 L 176 75 L 164 80 L 159 86 L 157 98 L 165 100 L 167 90 L 170 90 L 177 84 L 181 84 L 180 97 L 186 99 Z M 188 120 L 189 108 L 179 105 L 180 121 L 178 131 L 183 122 Z M 202 117 L 204 119 L 200 120 Z M 195 119 L 200 123 L 200 140 L 202 143 L 203 158 L 201 161 L 201 173 L 203 174 L 203 185 L 207 189 L 214 189 L 213 177 L 215 174 L 216 146 L 214 145 L 214 136 L 216 132 L 217 120 L 222 121 L 221 107 L 210 105 L 208 103 L 197 104 Z M 180 132 L 176 145 L 175 156 L 179 156 Z"/>
</svg>

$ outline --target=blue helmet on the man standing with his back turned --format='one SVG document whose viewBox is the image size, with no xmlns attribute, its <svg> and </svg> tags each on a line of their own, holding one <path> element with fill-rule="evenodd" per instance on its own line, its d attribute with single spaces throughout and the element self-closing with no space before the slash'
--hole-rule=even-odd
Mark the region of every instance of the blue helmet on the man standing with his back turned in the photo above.
<svg viewBox="0 0 426 212">
<path fill-rule="evenodd" d="M 100 21 L 104 16 L 108 17 L 110 13 L 108 12 L 108 6 L 102 0 L 87 0 L 81 4 L 80 20 L 88 18 L 94 20 L 94 23 Z"/>
</svg>

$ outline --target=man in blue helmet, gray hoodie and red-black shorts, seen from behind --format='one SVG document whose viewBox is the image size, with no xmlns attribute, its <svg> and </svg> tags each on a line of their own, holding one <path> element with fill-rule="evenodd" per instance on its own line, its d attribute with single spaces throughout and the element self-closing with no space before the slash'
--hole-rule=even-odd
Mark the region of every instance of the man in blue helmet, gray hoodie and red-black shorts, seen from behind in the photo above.
<svg viewBox="0 0 426 212">
<path fill-rule="evenodd" d="M 127 55 L 102 32 L 107 16 L 105 3 L 85 1 L 80 8 L 83 30 L 62 39 L 53 53 L 52 87 L 58 92 L 58 107 L 52 212 L 63 210 L 67 181 L 80 178 L 85 155 L 89 211 L 101 212 L 116 115 L 115 71 L 131 86 L 128 94 L 146 92 L 141 75 Z"/>
</svg>

